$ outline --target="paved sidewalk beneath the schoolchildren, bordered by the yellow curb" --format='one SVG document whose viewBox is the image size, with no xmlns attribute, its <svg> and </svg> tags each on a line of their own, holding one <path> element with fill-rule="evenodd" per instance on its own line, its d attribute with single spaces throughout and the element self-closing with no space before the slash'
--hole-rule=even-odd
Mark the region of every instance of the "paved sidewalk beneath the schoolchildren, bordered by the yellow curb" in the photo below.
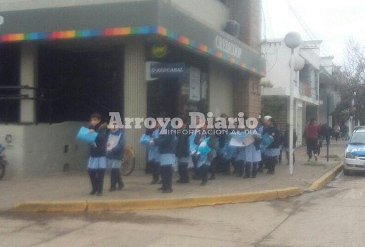
<svg viewBox="0 0 365 247">
<path fill-rule="evenodd" d="M 189 184 L 173 184 L 174 192 L 163 194 L 157 191 L 160 185 L 150 185 L 151 176 L 142 171 L 134 171 L 132 175 L 123 177 L 125 188 L 122 191 L 109 192 L 110 177 L 106 174 L 104 195 L 90 196 L 90 181 L 85 172 L 66 172 L 58 175 L 23 180 L 0 181 L 0 211 L 29 201 L 103 201 L 123 199 L 150 199 L 171 197 L 201 197 L 222 194 L 237 194 L 260 190 L 271 190 L 285 187 L 299 187 L 302 190 L 310 187 L 312 182 L 337 165 L 343 156 L 345 142 L 332 142 L 330 155 L 339 159 L 330 159 L 327 163 L 325 147 L 317 163 L 307 163 L 306 148 L 296 150 L 294 175 L 289 175 L 284 154 L 283 164 L 278 165 L 275 175 L 258 174 L 255 179 L 242 179 L 234 175 L 217 175 L 217 179 L 209 181 L 207 186 L 199 186 L 200 181 L 191 180 Z M 174 174 L 174 180 L 178 174 Z"/>
</svg>

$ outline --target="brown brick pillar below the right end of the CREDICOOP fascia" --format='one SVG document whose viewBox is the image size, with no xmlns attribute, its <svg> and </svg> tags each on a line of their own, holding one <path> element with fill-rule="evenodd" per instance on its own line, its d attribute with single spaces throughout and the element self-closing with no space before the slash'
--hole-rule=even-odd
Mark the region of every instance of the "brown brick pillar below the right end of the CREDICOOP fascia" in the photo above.
<svg viewBox="0 0 365 247">
<path fill-rule="evenodd" d="M 233 112 L 258 118 L 261 113 L 260 78 L 251 75 L 235 75 L 233 85 Z"/>
</svg>

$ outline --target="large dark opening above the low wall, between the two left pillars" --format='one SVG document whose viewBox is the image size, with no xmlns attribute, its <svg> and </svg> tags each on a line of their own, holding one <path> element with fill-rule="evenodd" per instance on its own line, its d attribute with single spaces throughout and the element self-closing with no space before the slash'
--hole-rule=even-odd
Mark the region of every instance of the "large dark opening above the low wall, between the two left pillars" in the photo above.
<svg viewBox="0 0 365 247">
<path fill-rule="evenodd" d="M 86 43 L 87 42 L 87 43 Z M 87 121 L 92 112 L 106 119 L 123 109 L 122 48 L 96 41 L 39 46 L 37 120 Z"/>
</svg>

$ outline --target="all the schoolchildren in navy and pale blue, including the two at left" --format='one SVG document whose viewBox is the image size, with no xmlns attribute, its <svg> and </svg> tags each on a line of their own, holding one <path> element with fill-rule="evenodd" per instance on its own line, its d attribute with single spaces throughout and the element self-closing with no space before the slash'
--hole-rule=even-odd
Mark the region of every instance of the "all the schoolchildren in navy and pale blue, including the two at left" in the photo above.
<svg viewBox="0 0 365 247">
<path fill-rule="evenodd" d="M 225 115 L 221 117 L 227 118 Z M 181 184 L 190 181 L 189 167 L 193 170 L 192 178 L 200 179 L 201 185 L 207 185 L 209 172 L 212 173 L 210 180 L 215 179 L 217 168 L 221 168 L 224 174 L 230 174 L 231 165 L 237 177 L 256 178 L 258 172 L 263 172 L 264 165 L 268 174 L 275 173 L 275 165 L 281 155 L 282 136 L 271 117 L 259 121 L 255 134 L 252 134 L 253 141 L 242 147 L 230 145 L 230 142 L 235 135 L 243 133 L 243 129 L 236 127 L 230 133 L 208 134 L 207 123 L 191 131 L 187 119 L 182 120 L 183 126 L 178 134 L 171 131 L 171 124 L 166 127 L 167 133 L 160 134 L 161 126 L 157 124 L 154 129 L 147 129 L 140 139 L 148 152 L 151 184 L 162 184 L 158 190 L 163 193 L 173 192 L 173 166 L 176 162 L 180 175 L 177 182 Z M 197 124 L 199 122 L 197 119 Z M 107 166 L 111 167 L 109 191 L 121 190 L 124 187 L 120 176 L 125 145 L 123 131 L 117 126 L 108 131 L 107 124 L 101 122 L 100 114 L 94 113 L 90 118 L 89 132 L 97 132 L 95 142 L 90 145 L 87 166 L 92 185 L 90 194 L 102 195 Z"/>
</svg>

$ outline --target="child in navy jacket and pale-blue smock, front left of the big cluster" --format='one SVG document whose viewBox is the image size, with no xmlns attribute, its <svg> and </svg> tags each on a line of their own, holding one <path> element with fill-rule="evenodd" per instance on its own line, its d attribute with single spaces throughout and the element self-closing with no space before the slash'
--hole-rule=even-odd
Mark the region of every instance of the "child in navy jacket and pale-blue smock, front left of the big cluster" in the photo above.
<svg viewBox="0 0 365 247">
<path fill-rule="evenodd" d="M 167 118 L 166 114 L 162 114 L 161 118 Z M 166 133 L 160 133 L 158 138 L 153 139 L 151 145 L 158 147 L 160 155 L 160 170 L 162 178 L 162 186 L 158 190 L 162 190 L 163 193 L 172 193 L 172 175 L 173 164 L 176 161 L 176 144 L 177 137 L 173 133 L 171 124 L 167 124 Z"/>
</svg>

